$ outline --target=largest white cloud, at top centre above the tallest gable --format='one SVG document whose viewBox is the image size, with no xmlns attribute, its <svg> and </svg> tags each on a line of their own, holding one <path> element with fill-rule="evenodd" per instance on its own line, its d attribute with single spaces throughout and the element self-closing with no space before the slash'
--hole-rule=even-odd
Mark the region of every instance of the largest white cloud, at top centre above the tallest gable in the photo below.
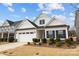
<svg viewBox="0 0 79 59">
<path fill-rule="evenodd" d="M 42 13 L 49 14 L 52 10 L 61 10 L 64 11 L 64 7 L 62 4 L 58 3 L 50 3 L 50 4 L 38 4 L 39 9 L 37 11 L 41 11 Z"/>
</svg>

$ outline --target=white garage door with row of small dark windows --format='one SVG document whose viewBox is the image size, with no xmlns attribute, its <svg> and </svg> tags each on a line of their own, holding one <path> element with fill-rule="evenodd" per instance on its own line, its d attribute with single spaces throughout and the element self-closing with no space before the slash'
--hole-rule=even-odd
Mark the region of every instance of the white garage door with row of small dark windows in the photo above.
<svg viewBox="0 0 79 59">
<path fill-rule="evenodd" d="M 32 42 L 32 39 L 36 37 L 34 31 L 19 32 L 16 35 L 18 42 Z"/>
</svg>

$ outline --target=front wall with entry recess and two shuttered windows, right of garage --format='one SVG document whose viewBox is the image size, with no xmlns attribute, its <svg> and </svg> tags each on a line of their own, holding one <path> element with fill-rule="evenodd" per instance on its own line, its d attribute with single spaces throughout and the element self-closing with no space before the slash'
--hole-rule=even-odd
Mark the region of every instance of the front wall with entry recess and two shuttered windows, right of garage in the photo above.
<svg viewBox="0 0 79 59">
<path fill-rule="evenodd" d="M 60 38 L 61 40 L 68 39 L 68 30 L 67 29 L 39 29 L 37 30 L 37 38 Z"/>
</svg>

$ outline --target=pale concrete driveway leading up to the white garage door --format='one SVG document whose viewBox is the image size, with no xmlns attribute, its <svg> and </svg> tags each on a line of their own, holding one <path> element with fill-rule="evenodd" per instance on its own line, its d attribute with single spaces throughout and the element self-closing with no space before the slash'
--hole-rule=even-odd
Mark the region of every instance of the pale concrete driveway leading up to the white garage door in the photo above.
<svg viewBox="0 0 79 59">
<path fill-rule="evenodd" d="M 14 49 L 14 48 L 22 46 L 24 44 L 27 44 L 27 43 L 8 43 L 8 44 L 0 45 L 0 52 L 8 50 L 8 49 Z M 6 56 L 6 55 L 0 54 L 0 56 Z"/>
</svg>

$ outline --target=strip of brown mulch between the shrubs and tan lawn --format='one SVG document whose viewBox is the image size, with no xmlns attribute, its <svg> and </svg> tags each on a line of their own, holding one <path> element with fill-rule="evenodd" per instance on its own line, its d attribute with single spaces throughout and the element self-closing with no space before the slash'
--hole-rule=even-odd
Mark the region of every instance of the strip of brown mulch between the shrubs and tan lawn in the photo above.
<svg viewBox="0 0 79 59">
<path fill-rule="evenodd" d="M 24 44 L 24 46 L 63 48 L 63 49 L 74 49 L 74 48 L 76 48 L 76 45 L 72 45 L 72 46 L 68 47 L 68 46 L 66 46 L 66 44 L 62 44 L 60 47 L 57 47 L 56 44 L 48 45 L 47 43 L 43 43 L 41 45 L 39 45 L 39 44 L 34 45 L 33 43 L 30 43 L 29 45 L 28 44 Z"/>
</svg>

